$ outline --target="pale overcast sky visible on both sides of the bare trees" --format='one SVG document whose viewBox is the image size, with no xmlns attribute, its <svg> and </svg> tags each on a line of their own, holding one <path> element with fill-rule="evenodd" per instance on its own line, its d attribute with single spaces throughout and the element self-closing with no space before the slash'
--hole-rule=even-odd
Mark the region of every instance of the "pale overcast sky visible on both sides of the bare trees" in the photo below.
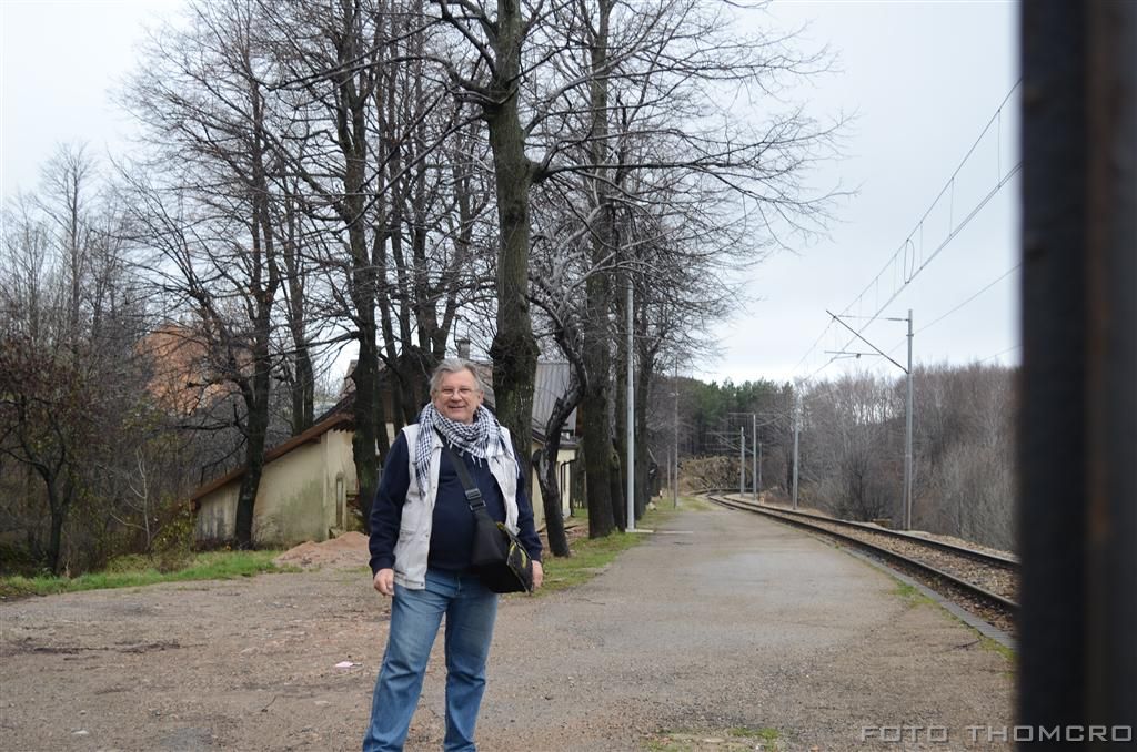
<svg viewBox="0 0 1137 752">
<path fill-rule="evenodd" d="M 130 123 L 109 92 L 134 62 L 143 23 L 179 5 L 0 0 L 5 198 L 35 187 L 57 143 L 86 141 L 100 154 L 123 153 Z M 1018 362 L 1018 281 L 1016 274 L 1004 276 L 1018 264 L 1018 179 L 1012 176 L 962 226 L 996 183 L 1013 173 L 1016 98 L 949 184 L 1018 81 L 1015 5 L 775 0 L 767 17 L 787 28 L 808 23 L 802 44 L 828 44 L 838 56 L 839 72 L 815 80 L 800 99 L 818 117 L 841 111 L 857 117 L 846 131 L 846 157 L 811 182 L 822 186 L 839 181 L 857 194 L 836 206 L 824 237 L 755 269 L 747 289 L 758 301 L 716 332 L 722 358 L 688 364 L 683 370 L 736 382 L 820 379 L 849 368 L 899 375 L 879 357 L 833 360 L 825 352 L 844 349 L 852 337 L 832 324 L 827 309 L 841 314 L 852 304 L 848 312 L 868 316 L 894 293 L 896 300 L 882 315 L 903 317 L 913 309 L 918 364 Z M 926 266 L 902 290 L 904 254 L 893 267 L 887 262 L 913 231 L 908 270 Z M 866 286 L 869 294 L 857 302 Z M 865 321 L 848 323 L 858 327 Z M 898 321 L 877 321 L 864 332 L 902 365 L 904 334 L 905 324 Z M 863 343 L 848 349 L 870 351 Z"/>
</svg>

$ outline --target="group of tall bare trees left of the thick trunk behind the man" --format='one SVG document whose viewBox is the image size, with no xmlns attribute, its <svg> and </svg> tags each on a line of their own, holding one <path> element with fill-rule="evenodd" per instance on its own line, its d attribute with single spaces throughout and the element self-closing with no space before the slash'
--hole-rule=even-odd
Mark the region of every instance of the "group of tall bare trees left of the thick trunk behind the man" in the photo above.
<svg viewBox="0 0 1137 752">
<path fill-rule="evenodd" d="M 481 145 L 468 114 L 424 72 L 437 36 L 428 25 L 415 3 L 201 0 L 156 37 L 124 98 L 155 157 L 128 172 L 146 197 L 132 202 L 140 239 L 166 245 L 159 284 L 181 291 L 227 364 L 215 377 L 244 396 L 242 544 L 269 381 L 291 392 L 298 433 L 313 420 L 321 351 L 358 344 L 354 457 L 366 525 L 385 426 L 414 419 L 462 304 L 484 287 Z"/>
</svg>

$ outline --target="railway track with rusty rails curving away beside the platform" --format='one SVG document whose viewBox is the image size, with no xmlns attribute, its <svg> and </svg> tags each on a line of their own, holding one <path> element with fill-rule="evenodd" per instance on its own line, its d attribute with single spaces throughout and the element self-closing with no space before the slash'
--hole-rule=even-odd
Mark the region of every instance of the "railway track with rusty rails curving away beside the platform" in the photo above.
<svg viewBox="0 0 1137 752">
<path fill-rule="evenodd" d="M 864 523 L 755 504 L 721 493 L 708 492 L 706 498 L 722 507 L 764 515 L 820 533 L 885 559 L 1004 632 L 1014 632 L 1019 610 L 1015 602 L 1019 562 L 1015 559 Z"/>
</svg>

